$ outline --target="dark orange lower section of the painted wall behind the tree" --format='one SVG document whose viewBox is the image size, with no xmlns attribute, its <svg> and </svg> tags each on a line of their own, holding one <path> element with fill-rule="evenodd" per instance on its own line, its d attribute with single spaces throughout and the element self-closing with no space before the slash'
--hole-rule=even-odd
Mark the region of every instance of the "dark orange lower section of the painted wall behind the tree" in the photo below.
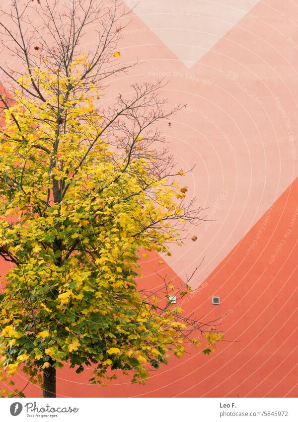
<svg viewBox="0 0 298 422">
<path fill-rule="evenodd" d="M 218 329 L 227 341 L 214 354 L 203 356 L 197 349 L 189 349 L 189 354 L 172 357 L 168 365 L 152 372 L 146 386 L 132 385 L 129 377 L 122 375 L 108 387 L 90 386 L 90 369 L 77 375 L 64 368 L 58 371 L 58 396 L 296 397 L 297 197 L 298 179 L 201 289 L 181 303 L 186 312 L 195 312 L 204 321 L 222 319 Z M 275 257 L 273 253 L 277 253 Z M 143 265 L 142 283 L 147 287 L 160 283 L 154 269 L 175 276 L 170 267 L 160 270 L 158 256 L 150 255 L 149 259 L 149 264 Z M 213 295 L 220 296 L 220 305 L 211 304 Z M 16 381 L 19 387 L 26 384 L 21 374 Z M 41 396 L 33 386 L 26 388 L 26 395 Z"/>
</svg>

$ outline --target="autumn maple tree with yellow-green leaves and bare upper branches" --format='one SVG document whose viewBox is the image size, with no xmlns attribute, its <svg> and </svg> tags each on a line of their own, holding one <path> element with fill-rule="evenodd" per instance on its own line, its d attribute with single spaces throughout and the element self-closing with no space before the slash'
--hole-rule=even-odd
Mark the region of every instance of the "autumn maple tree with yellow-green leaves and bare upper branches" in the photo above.
<svg viewBox="0 0 298 422">
<path fill-rule="evenodd" d="M 157 292 L 136 281 L 140 251 L 169 254 L 170 243 L 183 244 L 179 227 L 201 221 L 177 182 L 183 171 L 158 147 L 156 123 L 179 107 L 164 111 L 161 81 L 95 106 L 105 80 L 130 67 L 118 64 L 121 4 L 73 0 L 61 10 L 37 1 L 47 34 L 30 23 L 31 2 L 19 4 L 8 12 L 13 28 L 6 11 L 0 18 L 2 40 L 25 65 L 2 68 L 10 93 L 0 97 L 0 256 L 12 269 L 0 296 L 1 379 L 21 367 L 55 397 L 56 368 L 93 364 L 93 383 L 110 379 L 108 369 L 144 383 L 170 351 L 199 346 L 194 333 L 205 337 L 204 353 L 223 338 L 171 303 L 170 281 Z M 98 43 L 82 53 L 94 22 Z"/>
</svg>

